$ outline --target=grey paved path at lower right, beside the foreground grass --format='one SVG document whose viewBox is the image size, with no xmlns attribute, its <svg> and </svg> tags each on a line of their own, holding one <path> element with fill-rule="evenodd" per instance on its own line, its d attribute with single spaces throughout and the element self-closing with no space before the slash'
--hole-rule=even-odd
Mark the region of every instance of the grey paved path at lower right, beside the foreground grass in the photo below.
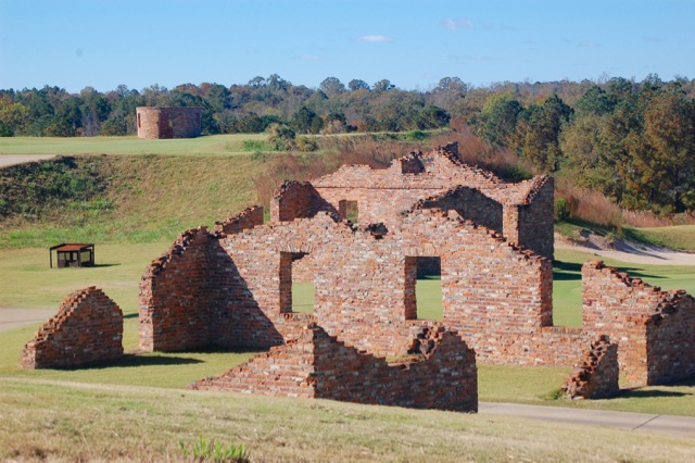
<svg viewBox="0 0 695 463">
<path fill-rule="evenodd" d="M 478 413 L 519 416 L 544 422 L 607 426 L 646 433 L 665 433 L 695 438 L 695 417 L 688 416 L 492 402 L 480 402 L 478 404 Z"/>
</svg>

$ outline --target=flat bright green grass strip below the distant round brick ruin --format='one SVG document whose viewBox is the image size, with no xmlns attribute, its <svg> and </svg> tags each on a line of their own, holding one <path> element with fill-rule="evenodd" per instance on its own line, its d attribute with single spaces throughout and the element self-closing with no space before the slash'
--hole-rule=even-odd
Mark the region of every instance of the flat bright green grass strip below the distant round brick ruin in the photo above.
<svg viewBox="0 0 695 463">
<path fill-rule="evenodd" d="M 243 140 L 265 140 L 265 134 L 211 135 L 198 138 L 146 140 L 129 137 L 0 137 L 1 154 L 179 154 L 247 153 Z"/>
</svg>

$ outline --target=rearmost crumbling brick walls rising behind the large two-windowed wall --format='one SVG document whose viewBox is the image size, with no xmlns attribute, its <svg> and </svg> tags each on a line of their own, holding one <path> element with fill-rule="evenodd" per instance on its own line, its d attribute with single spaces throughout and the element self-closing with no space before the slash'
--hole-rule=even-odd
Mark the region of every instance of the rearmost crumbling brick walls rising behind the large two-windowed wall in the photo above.
<svg viewBox="0 0 695 463">
<path fill-rule="evenodd" d="M 468 189 L 457 190 L 459 186 Z M 318 210 L 329 210 L 327 204 L 340 213 L 344 204 L 355 203 L 359 224 L 383 223 L 394 228 L 403 211 L 424 200 L 420 207 L 454 209 L 502 233 L 510 242 L 552 259 L 553 195 L 551 177 L 504 183 L 488 171 L 463 163 L 454 143 L 412 153 L 386 170 L 344 165 L 311 184 L 286 183 L 276 193 L 271 217 L 311 217 Z"/>
</svg>

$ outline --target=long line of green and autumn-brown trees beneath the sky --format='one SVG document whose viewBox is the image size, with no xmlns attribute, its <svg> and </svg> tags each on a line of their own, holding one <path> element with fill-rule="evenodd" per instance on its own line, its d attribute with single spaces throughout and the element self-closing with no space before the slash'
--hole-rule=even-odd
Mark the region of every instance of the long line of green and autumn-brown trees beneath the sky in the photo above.
<svg viewBox="0 0 695 463">
<path fill-rule="evenodd" d="M 601 191 L 627 209 L 695 210 L 695 79 L 503 83 L 458 77 L 403 90 L 328 77 L 318 88 L 278 75 L 245 85 L 0 90 L 0 136 L 136 133 L 135 108 L 200 107 L 204 134 L 263 133 L 276 149 L 312 150 L 298 135 L 452 128 L 516 153 L 534 172 Z"/>
</svg>

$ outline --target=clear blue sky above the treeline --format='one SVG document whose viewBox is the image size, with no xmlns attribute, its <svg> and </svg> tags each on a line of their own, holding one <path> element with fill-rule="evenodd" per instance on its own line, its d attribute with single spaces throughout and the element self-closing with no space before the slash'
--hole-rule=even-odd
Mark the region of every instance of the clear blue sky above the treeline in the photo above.
<svg viewBox="0 0 695 463">
<path fill-rule="evenodd" d="M 695 78 L 695 0 L 0 0 L 0 88 Z"/>
</svg>

